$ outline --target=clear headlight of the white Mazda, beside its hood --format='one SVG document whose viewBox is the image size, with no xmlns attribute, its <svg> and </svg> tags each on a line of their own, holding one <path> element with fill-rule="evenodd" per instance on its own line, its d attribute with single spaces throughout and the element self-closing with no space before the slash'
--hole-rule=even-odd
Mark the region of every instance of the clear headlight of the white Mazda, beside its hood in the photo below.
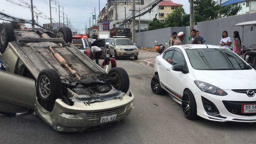
<svg viewBox="0 0 256 144">
<path fill-rule="evenodd" d="M 214 95 L 217 95 L 217 96 L 226 96 L 228 95 L 228 93 L 226 93 L 224 90 L 216 87 L 216 86 L 213 86 L 209 83 L 205 83 L 205 82 L 201 82 L 199 80 L 194 80 L 194 83 L 196 84 L 196 86 L 206 92 L 206 93 L 209 93 L 209 94 L 214 94 Z"/>
</svg>

